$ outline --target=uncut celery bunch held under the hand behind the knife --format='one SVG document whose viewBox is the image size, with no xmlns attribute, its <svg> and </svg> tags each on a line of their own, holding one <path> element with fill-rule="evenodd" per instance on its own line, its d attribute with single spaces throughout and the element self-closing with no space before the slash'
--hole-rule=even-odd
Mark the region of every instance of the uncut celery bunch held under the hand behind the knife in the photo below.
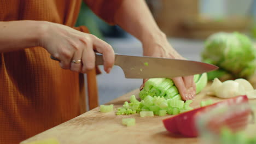
<svg viewBox="0 0 256 144">
<path fill-rule="evenodd" d="M 202 91 L 207 85 L 207 74 L 194 75 L 194 81 L 196 83 L 196 93 Z M 167 78 L 154 78 L 149 79 L 145 83 L 145 87 L 139 93 L 139 97 L 143 100 L 148 95 L 151 97 L 163 97 L 165 99 L 182 100 L 181 95 L 177 87 L 174 85 L 171 79 Z"/>
</svg>

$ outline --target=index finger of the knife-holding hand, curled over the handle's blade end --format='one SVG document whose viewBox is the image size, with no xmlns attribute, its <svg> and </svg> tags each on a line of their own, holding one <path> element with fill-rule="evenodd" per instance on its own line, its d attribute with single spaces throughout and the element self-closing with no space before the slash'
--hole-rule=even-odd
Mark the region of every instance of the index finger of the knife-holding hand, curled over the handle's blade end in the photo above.
<svg viewBox="0 0 256 144">
<path fill-rule="evenodd" d="M 94 41 L 94 50 L 97 52 L 102 53 L 103 55 L 103 61 L 104 61 L 104 70 L 106 73 L 109 73 L 110 70 L 112 69 L 115 61 L 115 54 L 112 46 L 110 46 L 108 43 L 105 41 L 93 37 Z"/>
</svg>

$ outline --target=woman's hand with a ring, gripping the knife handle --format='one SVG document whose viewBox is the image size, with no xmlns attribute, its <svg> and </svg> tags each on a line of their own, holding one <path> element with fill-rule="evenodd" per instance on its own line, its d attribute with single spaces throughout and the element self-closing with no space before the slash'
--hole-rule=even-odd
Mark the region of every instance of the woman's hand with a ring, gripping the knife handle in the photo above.
<svg viewBox="0 0 256 144">
<path fill-rule="evenodd" d="M 95 52 L 102 53 L 104 70 L 109 73 L 114 64 L 112 46 L 95 35 L 77 31 L 53 22 L 43 22 L 39 46 L 60 60 L 61 68 L 86 73 L 95 67 Z M 81 63 L 72 61 L 81 60 Z"/>
</svg>

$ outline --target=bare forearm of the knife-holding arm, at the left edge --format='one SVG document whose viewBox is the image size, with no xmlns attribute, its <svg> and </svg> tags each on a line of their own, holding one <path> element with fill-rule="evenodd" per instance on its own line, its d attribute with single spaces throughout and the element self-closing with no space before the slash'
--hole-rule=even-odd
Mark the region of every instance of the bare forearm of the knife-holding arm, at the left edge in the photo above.
<svg viewBox="0 0 256 144">
<path fill-rule="evenodd" d="M 0 22 L 0 52 L 11 52 L 39 46 L 42 35 L 40 21 Z"/>
</svg>

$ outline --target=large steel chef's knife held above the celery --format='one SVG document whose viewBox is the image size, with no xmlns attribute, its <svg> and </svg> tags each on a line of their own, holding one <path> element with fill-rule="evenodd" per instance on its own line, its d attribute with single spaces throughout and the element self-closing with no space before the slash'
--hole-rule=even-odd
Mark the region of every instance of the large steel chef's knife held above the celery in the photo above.
<svg viewBox="0 0 256 144">
<path fill-rule="evenodd" d="M 51 59 L 59 59 L 51 56 Z M 103 65 L 103 55 L 96 52 L 96 65 Z M 202 74 L 218 69 L 217 66 L 183 59 L 131 56 L 115 54 L 114 65 L 123 69 L 125 77 L 130 79 L 149 79 L 158 77 L 178 77 Z"/>
</svg>

